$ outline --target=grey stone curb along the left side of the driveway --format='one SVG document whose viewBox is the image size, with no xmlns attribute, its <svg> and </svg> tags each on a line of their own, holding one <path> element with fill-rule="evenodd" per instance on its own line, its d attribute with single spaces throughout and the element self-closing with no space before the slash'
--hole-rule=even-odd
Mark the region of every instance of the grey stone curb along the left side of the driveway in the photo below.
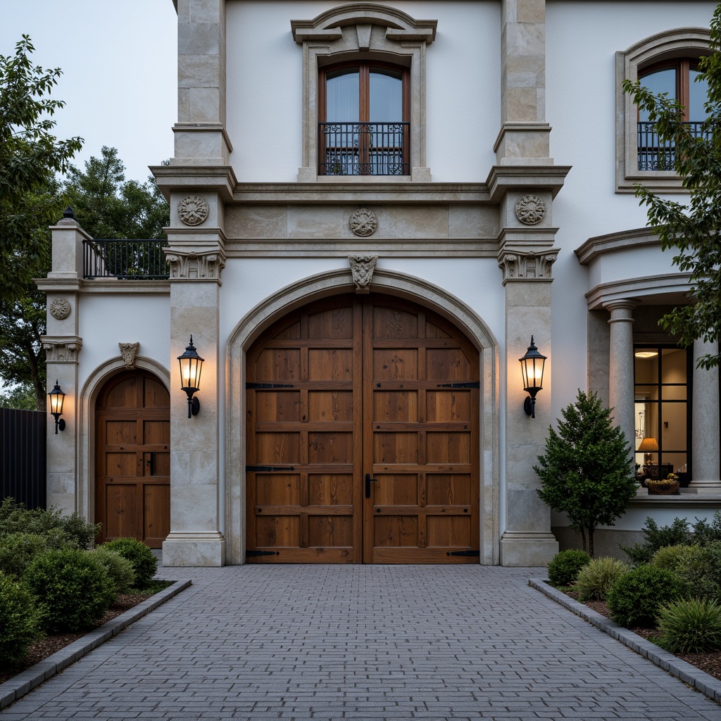
<svg viewBox="0 0 721 721">
<path fill-rule="evenodd" d="M 106 624 L 102 624 L 102 626 L 97 629 L 93 629 L 57 653 L 53 653 L 53 655 L 48 656 L 48 658 L 44 658 L 34 666 L 27 668 L 25 671 L 18 673 L 17 676 L 5 681 L 4 684 L 0 684 L 0 709 L 9 706 L 21 696 L 25 696 L 25 694 L 32 691 L 35 686 L 40 686 L 43 681 L 47 681 L 50 676 L 55 676 L 58 671 L 62 671 L 63 668 L 66 668 L 71 663 L 90 653 L 100 644 L 116 636 L 123 629 L 138 619 L 141 619 L 143 616 L 146 616 L 162 603 L 165 603 L 165 601 L 169 601 L 173 596 L 177 596 L 180 591 L 188 588 L 191 583 L 190 579 L 176 581 L 173 585 L 169 585 L 168 588 L 151 596 L 147 601 L 138 603 L 137 606 L 128 609 L 124 614 L 115 616 L 114 619 L 110 619 Z"/>
</svg>

